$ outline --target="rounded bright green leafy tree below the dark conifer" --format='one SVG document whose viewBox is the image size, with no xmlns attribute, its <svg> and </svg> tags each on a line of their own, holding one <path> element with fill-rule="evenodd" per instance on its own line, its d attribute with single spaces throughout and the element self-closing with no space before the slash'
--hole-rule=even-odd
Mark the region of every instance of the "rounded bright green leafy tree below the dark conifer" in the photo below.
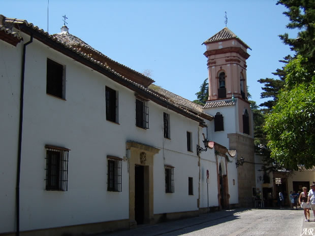
<svg viewBox="0 0 315 236">
<path fill-rule="evenodd" d="M 267 115 L 264 127 L 272 158 L 288 170 L 297 170 L 299 165 L 313 167 L 315 79 L 310 84 L 297 84 L 281 92 L 273 111 Z"/>
</svg>

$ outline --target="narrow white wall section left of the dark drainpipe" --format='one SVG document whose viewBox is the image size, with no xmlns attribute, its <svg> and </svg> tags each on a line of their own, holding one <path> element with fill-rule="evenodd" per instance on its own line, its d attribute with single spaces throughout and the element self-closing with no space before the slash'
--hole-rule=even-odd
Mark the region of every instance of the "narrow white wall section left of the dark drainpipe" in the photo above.
<svg viewBox="0 0 315 236">
<path fill-rule="evenodd" d="M 0 40 L 0 233 L 15 227 L 22 47 Z M 5 222 L 5 223 L 4 223 Z"/>
</svg>

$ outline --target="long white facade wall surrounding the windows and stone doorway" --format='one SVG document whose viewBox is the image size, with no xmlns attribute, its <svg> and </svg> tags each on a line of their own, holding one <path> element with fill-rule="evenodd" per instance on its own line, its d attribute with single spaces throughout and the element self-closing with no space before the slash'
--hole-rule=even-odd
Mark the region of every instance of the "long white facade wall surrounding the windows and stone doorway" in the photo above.
<svg viewBox="0 0 315 236">
<path fill-rule="evenodd" d="M 28 41 L 27 36 L 24 39 Z M 3 154 L 10 159 L 2 155 L 0 160 L 1 173 L 6 175 L 0 180 L 2 186 L 6 186 L 0 195 L 1 202 L 6 203 L 0 219 L 6 223 L 0 224 L 0 232 L 7 232 L 14 231 L 15 227 L 20 73 L 14 70 L 14 63 L 19 69 L 20 62 L 16 58 L 20 58 L 22 44 L 12 48 L 0 41 L 0 45 L 0 58 L 6 59 L 6 63 L 0 65 L 1 72 L 10 71 L 6 80 L 1 80 L 1 85 L 5 85 L 1 89 L 8 93 L 11 86 L 14 91 L 12 97 L 3 92 L 0 95 L 4 96 L 2 100 L 8 101 L 2 106 L 14 117 L 2 115 L 0 122 L 6 124 L 0 126 L 1 139 L 8 139 Z M 46 94 L 47 58 L 66 66 L 66 100 Z M 198 210 L 198 122 L 149 101 L 150 128 L 136 127 L 133 91 L 37 40 L 27 46 L 25 68 L 20 230 L 128 219 L 127 162 L 122 162 L 122 192 L 108 192 L 106 156 L 123 158 L 125 143 L 130 140 L 161 149 L 154 156 L 154 214 Z M 9 83 L 11 79 L 13 82 Z M 118 91 L 119 124 L 106 120 L 105 86 Z M 163 137 L 163 112 L 170 114 L 170 140 Z M 187 151 L 186 131 L 192 132 L 193 152 Z M 71 149 L 68 191 L 45 191 L 47 144 Z M 5 147 L 3 143 L 0 145 Z M 175 166 L 173 194 L 165 193 L 164 164 Z M 194 195 L 188 195 L 188 177 L 193 177 Z"/>
</svg>

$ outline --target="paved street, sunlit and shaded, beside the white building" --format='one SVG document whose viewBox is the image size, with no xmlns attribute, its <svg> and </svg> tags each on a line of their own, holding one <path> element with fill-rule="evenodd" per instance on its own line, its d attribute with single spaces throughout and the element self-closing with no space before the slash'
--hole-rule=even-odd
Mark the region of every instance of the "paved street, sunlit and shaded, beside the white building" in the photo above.
<svg viewBox="0 0 315 236">
<path fill-rule="evenodd" d="M 236 209 L 97 236 L 315 236 L 312 212 L 311 222 L 304 222 L 304 219 L 303 211 L 300 209 Z"/>
</svg>

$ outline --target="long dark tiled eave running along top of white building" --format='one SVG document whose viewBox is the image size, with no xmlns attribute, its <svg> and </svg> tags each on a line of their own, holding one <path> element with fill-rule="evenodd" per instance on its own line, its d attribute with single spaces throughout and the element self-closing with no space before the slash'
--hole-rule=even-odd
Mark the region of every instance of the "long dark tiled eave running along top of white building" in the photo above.
<svg viewBox="0 0 315 236">
<path fill-rule="evenodd" d="M 187 117 L 190 117 L 191 119 L 202 122 L 202 117 L 200 114 L 192 112 L 191 110 L 188 110 L 188 109 L 184 109 L 179 104 L 175 103 L 174 100 L 169 99 L 167 96 L 163 95 L 162 93 L 158 93 L 155 90 L 152 90 L 148 87 L 145 87 L 145 86 L 143 86 L 139 83 L 136 83 L 135 81 L 130 80 L 127 77 L 119 74 L 118 72 L 116 72 L 115 70 L 110 68 L 110 66 L 108 66 L 108 64 L 106 62 L 103 63 L 102 61 L 95 59 L 93 57 L 95 55 L 94 53 L 93 54 L 87 54 L 86 52 L 83 52 L 83 50 L 80 50 L 79 48 L 77 48 L 75 46 L 75 43 L 74 44 L 71 44 L 71 43 L 68 44 L 66 40 L 59 40 L 58 37 L 55 37 L 53 35 L 49 35 L 48 32 L 45 32 L 43 29 L 39 28 L 38 26 L 34 26 L 34 24 L 32 24 L 32 23 L 28 23 L 26 20 L 18 20 L 15 18 L 6 18 L 3 15 L 0 15 L 0 17 L 4 18 L 5 23 L 19 24 L 17 27 L 20 28 L 20 30 L 22 30 L 23 32 L 29 33 L 29 30 L 31 30 L 31 32 L 33 34 L 37 33 L 36 37 L 39 40 L 42 40 L 42 42 L 49 44 L 50 46 L 54 46 L 54 44 L 61 46 L 61 48 L 63 48 L 62 52 L 64 52 L 66 55 L 69 55 L 73 58 L 79 59 L 79 61 L 81 61 L 81 63 L 86 64 L 86 65 L 88 64 L 88 66 L 92 66 L 92 65 L 97 66 L 98 68 L 100 68 L 100 70 L 98 70 L 98 71 L 100 71 L 100 73 L 103 73 L 103 71 L 104 72 L 107 71 L 108 73 L 110 73 L 111 75 L 113 75 L 117 78 L 114 80 L 117 81 L 118 83 L 121 83 L 124 86 L 128 86 L 130 88 L 133 88 L 135 91 L 144 92 L 144 94 L 147 94 L 147 96 L 150 97 L 150 99 L 153 99 L 154 102 L 156 102 L 158 104 L 163 104 L 163 103 L 168 104 L 168 106 L 173 107 L 176 112 L 179 112 L 180 114 L 186 114 Z M 0 21 L 0 27 L 3 26 L 3 25 L 1 25 L 1 23 L 2 22 Z M 26 28 L 24 28 L 24 26 Z M 69 40 L 71 42 L 78 42 L 78 43 L 83 42 L 82 40 L 80 40 L 77 37 L 70 38 Z M 85 43 L 83 42 L 82 44 L 85 44 Z M 90 46 L 88 46 L 86 44 L 86 47 L 90 47 Z M 60 51 L 61 49 L 58 48 L 58 50 Z M 69 51 L 67 51 L 67 50 L 69 50 Z M 91 50 L 94 50 L 94 49 L 91 48 Z M 94 50 L 94 51 L 96 51 L 96 50 Z M 97 68 L 97 67 L 95 67 L 95 68 Z M 106 73 L 106 75 L 108 73 Z"/>
</svg>

